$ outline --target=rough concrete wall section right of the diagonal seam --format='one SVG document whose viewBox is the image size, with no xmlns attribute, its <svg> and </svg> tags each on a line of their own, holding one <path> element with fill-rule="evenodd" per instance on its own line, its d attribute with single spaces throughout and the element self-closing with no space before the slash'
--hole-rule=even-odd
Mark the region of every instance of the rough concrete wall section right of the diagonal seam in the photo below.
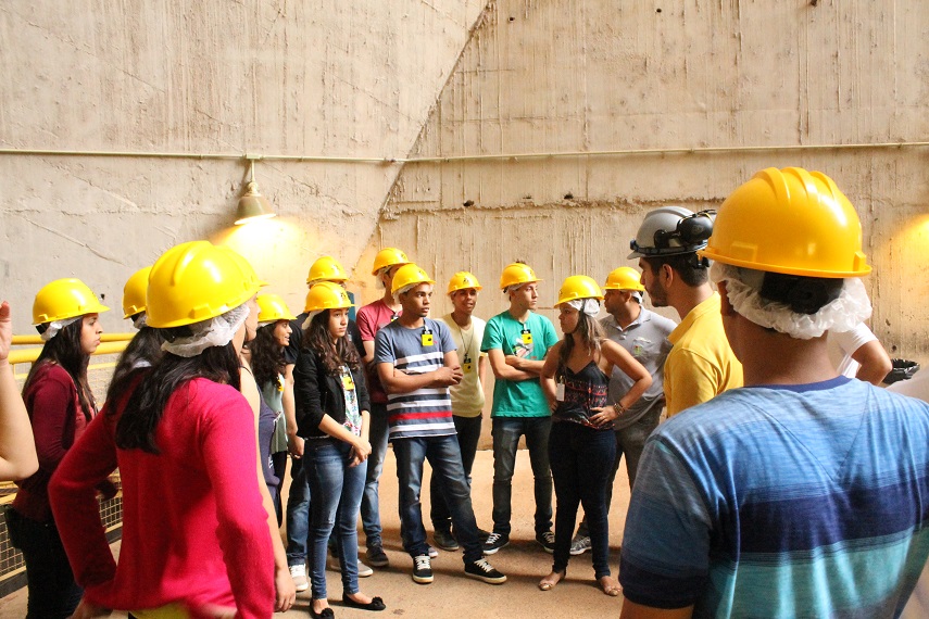
<svg viewBox="0 0 929 619">
<path fill-rule="evenodd" d="M 415 155 L 926 140 L 927 34 L 921 2 L 500 0 Z M 520 257 L 551 307 L 564 277 L 602 281 L 631 265 L 629 239 L 650 209 L 714 206 L 761 168 L 800 165 L 832 176 L 856 205 L 874 330 L 891 356 L 926 365 L 927 164 L 925 147 L 407 164 L 362 263 L 397 244 L 442 283 L 469 268 L 490 316 L 505 307 L 502 267 Z"/>
</svg>

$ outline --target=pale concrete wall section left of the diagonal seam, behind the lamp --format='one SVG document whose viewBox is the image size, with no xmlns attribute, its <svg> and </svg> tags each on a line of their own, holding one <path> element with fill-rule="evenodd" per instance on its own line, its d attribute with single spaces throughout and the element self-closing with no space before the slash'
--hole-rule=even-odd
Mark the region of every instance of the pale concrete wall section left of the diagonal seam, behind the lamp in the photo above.
<svg viewBox="0 0 929 619">
<path fill-rule="evenodd" d="M 0 148 L 402 157 L 484 7 L 0 0 Z M 118 307 L 137 268 L 213 238 L 297 310 L 315 257 L 357 262 L 399 169 L 259 163 L 279 216 L 233 232 L 242 161 L 2 154 L 0 296 L 16 332 L 59 277 Z"/>
</svg>

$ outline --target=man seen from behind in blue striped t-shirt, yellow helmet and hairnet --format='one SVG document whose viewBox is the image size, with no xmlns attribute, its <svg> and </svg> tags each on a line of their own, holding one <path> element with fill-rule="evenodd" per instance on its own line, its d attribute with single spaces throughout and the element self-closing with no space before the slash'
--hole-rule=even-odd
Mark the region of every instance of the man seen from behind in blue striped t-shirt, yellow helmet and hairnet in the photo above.
<svg viewBox="0 0 929 619">
<path fill-rule="evenodd" d="M 646 442 L 622 619 L 897 617 L 929 555 L 929 405 L 829 359 L 826 332 L 870 314 L 854 207 L 821 173 L 767 168 L 698 253 L 745 386 Z"/>
</svg>

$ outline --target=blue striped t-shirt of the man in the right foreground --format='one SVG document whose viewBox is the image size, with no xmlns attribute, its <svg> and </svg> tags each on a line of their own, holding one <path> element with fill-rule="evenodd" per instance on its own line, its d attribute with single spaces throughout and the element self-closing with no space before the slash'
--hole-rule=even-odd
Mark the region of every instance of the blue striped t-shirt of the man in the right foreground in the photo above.
<svg viewBox="0 0 929 619">
<path fill-rule="evenodd" d="M 649 439 L 620 582 L 694 617 L 894 617 L 927 518 L 929 405 L 844 377 L 735 389 Z"/>
</svg>

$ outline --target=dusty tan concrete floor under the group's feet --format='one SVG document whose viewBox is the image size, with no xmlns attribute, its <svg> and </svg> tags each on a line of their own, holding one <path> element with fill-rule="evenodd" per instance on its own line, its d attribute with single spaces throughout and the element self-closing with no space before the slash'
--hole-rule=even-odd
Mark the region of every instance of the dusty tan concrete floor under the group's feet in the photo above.
<svg viewBox="0 0 929 619">
<path fill-rule="evenodd" d="M 625 463 L 624 463 L 625 465 Z M 539 579 L 551 568 L 551 555 L 535 542 L 532 531 L 532 476 L 528 452 L 519 451 L 516 475 L 513 479 L 513 533 L 511 544 L 490 557 L 491 563 L 503 571 L 509 580 L 493 586 L 465 578 L 462 572 L 461 553 L 440 552 L 432 561 L 435 582 L 415 584 L 411 578 L 411 559 L 400 544 L 400 522 L 397 514 L 397 475 L 393 454 L 388 453 L 381 478 L 381 519 L 384 523 L 385 549 L 390 557 L 390 567 L 376 570 L 369 578 L 361 579 L 361 589 L 371 595 L 380 595 L 387 610 L 378 614 L 410 618 L 443 619 L 469 617 L 597 617 L 618 616 L 620 597 L 607 597 L 595 586 L 590 554 L 573 557 L 567 580 L 549 592 L 539 591 Z M 474 468 L 473 501 L 478 525 L 491 528 L 491 484 L 493 457 L 491 452 L 478 452 Z M 286 495 L 286 494 L 285 494 Z M 610 513 L 610 546 L 614 574 L 618 566 L 618 549 L 623 538 L 623 525 L 629 504 L 629 483 L 625 466 L 620 467 L 614 487 L 613 508 Z M 428 484 L 423 492 L 424 513 L 428 522 Z M 431 529 L 427 523 L 431 535 Z M 431 539 L 431 538 L 430 538 Z M 116 544 L 118 546 L 118 544 Z M 118 548 L 116 548 L 118 549 Z M 337 572 L 328 572 L 329 599 L 337 617 L 367 617 L 375 614 L 342 607 L 341 583 Z M 298 595 L 293 609 L 275 617 L 307 617 L 310 592 Z M 26 590 L 23 589 L 0 599 L 0 617 L 13 618 L 26 615 Z M 114 614 L 114 618 L 126 617 Z"/>
</svg>

